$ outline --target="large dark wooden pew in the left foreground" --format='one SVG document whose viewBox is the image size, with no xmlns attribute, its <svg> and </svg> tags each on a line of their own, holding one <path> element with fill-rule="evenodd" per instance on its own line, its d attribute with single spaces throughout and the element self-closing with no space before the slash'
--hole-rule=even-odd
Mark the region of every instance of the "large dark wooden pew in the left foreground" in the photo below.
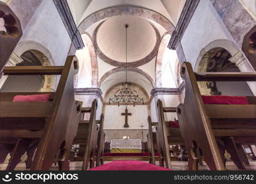
<svg viewBox="0 0 256 184">
<path fill-rule="evenodd" d="M 31 170 L 49 170 L 58 155 L 60 170 L 69 169 L 69 155 L 78 128 L 81 107 L 74 100 L 73 80 L 78 73 L 76 56 L 65 66 L 4 67 L 4 75 L 61 75 L 49 102 L 12 102 L 17 94 L 0 93 L 0 157 L 11 154 L 7 170 L 15 169 L 20 157 L 38 140 Z M 14 147 L 13 147 L 14 145 Z"/>
</svg>

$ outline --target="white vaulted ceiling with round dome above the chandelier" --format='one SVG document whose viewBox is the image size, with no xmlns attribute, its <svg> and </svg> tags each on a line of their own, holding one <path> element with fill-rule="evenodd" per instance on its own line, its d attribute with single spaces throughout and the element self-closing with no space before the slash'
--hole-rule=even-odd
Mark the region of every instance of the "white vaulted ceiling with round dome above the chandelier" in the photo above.
<svg viewBox="0 0 256 184">
<path fill-rule="evenodd" d="M 162 37 L 171 34 L 186 0 L 68 0 L 80 33 L 87 34 L 97 55 L 103 93 L 124 82 L 137 83 L 149 94 L 156 81 L 156 59 Z M 158 59 L 159 60 L 159 59 Z M 107 75 L 107 76 L 106 76 Z"/>
</svg>

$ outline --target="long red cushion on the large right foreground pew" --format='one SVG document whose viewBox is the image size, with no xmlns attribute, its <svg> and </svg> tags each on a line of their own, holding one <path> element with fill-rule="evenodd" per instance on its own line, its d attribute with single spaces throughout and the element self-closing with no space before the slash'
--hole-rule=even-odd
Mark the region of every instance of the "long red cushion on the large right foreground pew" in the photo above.
<svg viewBox="0 0 256 184">
<path fill-rule="evenodd" d="M 202 96 L 204 104 L 248 105 L 246 96 Z"/>
</svg>

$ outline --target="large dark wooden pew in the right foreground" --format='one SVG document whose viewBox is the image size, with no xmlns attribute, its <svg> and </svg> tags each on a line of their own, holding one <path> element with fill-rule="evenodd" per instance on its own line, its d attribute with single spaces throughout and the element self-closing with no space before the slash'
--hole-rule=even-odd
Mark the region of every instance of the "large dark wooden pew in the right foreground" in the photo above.
<svg viewBox="0 0 256 184">
<path fill-rule="evenodd" d="M 195 149 L 201 148 L 204 160 L 211 170 L 225 170 L 221 140 L 231 159 L 237 166 L 243 166 L 236 144 L 256 142 L 256 100 L 247 97 L 249 105 L 204 104 L 198 81 L 256 81 L 255 73 L 194 73 L 190 63 L 183 63 L 181 76 L 185 80 L 185 101 L 178 105 L 177 115 L 180 132 L 185 140 L 190 157 L 189 169 L 196 170 L 198 155 Z"/>
</svg>

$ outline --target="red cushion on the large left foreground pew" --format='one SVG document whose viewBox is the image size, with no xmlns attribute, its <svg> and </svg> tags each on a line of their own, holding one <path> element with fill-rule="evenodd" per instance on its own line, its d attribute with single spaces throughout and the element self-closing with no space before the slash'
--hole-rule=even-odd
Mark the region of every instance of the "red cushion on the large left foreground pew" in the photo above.
<svg viewBox="0 0 256 184">
<path fill-rule="evenodd" d="M 49 102 L 50 94 L 16 95 L 14 102 Z"/>
</svg>

